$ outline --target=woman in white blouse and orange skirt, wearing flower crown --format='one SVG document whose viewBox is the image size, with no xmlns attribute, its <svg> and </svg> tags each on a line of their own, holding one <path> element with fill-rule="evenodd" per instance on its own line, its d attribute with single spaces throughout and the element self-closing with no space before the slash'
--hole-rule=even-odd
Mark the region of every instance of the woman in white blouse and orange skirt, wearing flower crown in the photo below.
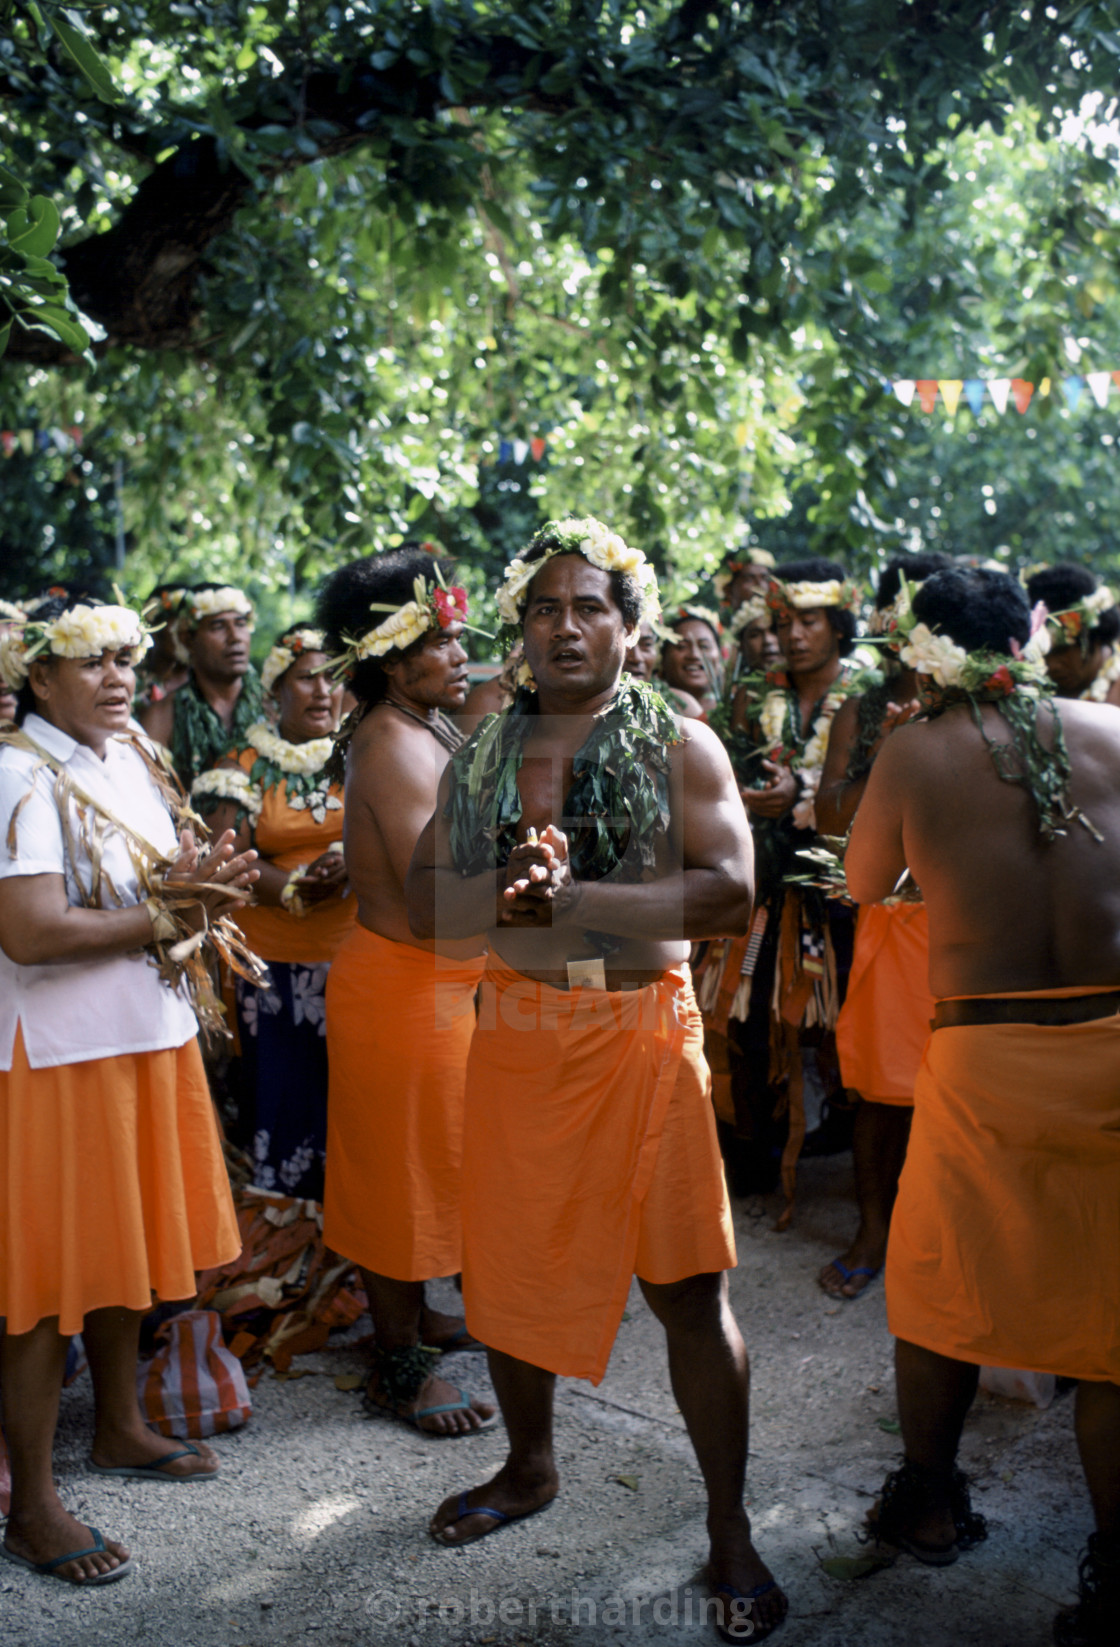
<svg viewBox="0 0 1120 1647">
<path fill-rule="evenodd" d="M 209 1448 L 143 1423 L 137 1341 L 153 1295 L 193 1298 L 194 1271 L 240 1247 L 184 968 L 255 855 L 176 830 L 128 725 L 145 647 L 135 613 L 71 600 L 0 637 L 20 693 L 20 726 L 0 733 L 0 1550 L 79 1584 L 130 1560 L 54 1489 L 68 1339 L 82 1332 L 94 1379 L 94 1471 L 212 1476 Z"/>
</svg>

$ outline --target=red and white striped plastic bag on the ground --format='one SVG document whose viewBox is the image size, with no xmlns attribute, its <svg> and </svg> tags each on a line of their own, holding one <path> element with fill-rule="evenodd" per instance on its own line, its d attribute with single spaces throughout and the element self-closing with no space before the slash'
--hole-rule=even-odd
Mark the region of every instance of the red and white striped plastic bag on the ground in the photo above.
<svg viewBox="0 0 1120 1647">
<path fill-rule="evenodd" d="M 203 1441 L 252 1413 L 245 1374 L 214 1309 L 188 1309 L 156 1329 L 158 1349 L 137 1369 L 140 1410 L 161 1436 Z"/>
</svg>

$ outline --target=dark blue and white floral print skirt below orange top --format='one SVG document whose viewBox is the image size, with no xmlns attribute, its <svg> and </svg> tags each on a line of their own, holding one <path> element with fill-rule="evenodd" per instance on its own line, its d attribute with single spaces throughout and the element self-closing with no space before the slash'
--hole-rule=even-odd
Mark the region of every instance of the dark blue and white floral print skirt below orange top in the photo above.
<svg viewBox="0 0 1120 1647">
<path fill-rule="evenodd" d="M 252 1102 L 254 1183 L 323 1199 L 326 975 L 329 963 L 270 960 L 267 988 L 237 978 L 237 1028 Z"/>
</svg>

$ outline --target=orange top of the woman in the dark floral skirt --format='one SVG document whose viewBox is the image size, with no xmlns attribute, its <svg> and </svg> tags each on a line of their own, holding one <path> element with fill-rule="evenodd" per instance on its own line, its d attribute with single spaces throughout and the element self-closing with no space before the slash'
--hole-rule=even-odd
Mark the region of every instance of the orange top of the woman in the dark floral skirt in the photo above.
<svg viewBox="0 0 1120 1647">
<path fill-rule="evenodd" d="M 249 771 L 255 749 L 242 749 L 239 764 Z M 287 782 L 265 791 L 252 843 L 257 851 L 288 875 L 321 858 L 328 847 L 343 838 L 343 814 L 328 812 L 321 824 L 303 809 L 295 812 L 287 802 Z M 341 799 L 338 784 L 331 796 Z M 237 912 L 237 926 L 249 947 L 262 960 L 303 962 L 318 965 L 334 960 L 338 945 L 357 919 L 357 899 L 331 898 L 313 906 L 305 916 L 293 916 L 277 904 L 249 904 Z"/>
</svg>

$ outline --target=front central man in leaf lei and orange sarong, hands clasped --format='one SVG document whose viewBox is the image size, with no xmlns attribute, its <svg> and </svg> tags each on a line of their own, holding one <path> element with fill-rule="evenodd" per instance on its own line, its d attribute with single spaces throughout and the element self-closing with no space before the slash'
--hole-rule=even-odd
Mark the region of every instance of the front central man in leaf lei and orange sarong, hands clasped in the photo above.
<svg viewBox="0 0 1120 1647">
<path fill-rule="evenodd" d="M 451 1548 L 558 1492 L 557 1375 L 600 1382 L 629 1285 L 665 1327 L 708 1491 L 710 1606 L 761 1640 L 786 1598 L 743 1507 L 748 1359 L 688 940 L 746 929 L 751 845 L 716 738 L 623 675 L 657 595 L 596 520 L 522 552 L 499 611 L 532 684 L 453 756 L 408 873 L 413 931 L 488 931 L 466 1079 L 463 1295 L 509 1456 L 450 1497 Z"/>
</svg>

